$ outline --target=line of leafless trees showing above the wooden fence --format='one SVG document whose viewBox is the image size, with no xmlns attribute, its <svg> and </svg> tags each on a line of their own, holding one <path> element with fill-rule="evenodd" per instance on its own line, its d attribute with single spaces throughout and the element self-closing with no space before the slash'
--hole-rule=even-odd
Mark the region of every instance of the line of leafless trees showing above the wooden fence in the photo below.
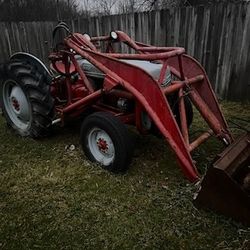
<svg viewBox="0 0 250 250">
<path fill-rule="evenodd" d="M 0 0 L 0 21 L 66 20 L 229 1 L 247 0 Z"/>
</svg>

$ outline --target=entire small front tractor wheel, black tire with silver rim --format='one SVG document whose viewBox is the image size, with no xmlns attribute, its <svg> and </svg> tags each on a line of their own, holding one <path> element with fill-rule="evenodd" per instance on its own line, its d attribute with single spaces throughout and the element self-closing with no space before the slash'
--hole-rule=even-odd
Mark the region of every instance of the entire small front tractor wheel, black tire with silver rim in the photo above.
<svg viewBox="0 0 250 250">
<path fill-rule="evenodd" d="M 91 161 L 114 173 L 127 170 L 132 143 L 125 125 L 113 115 L 96 112 L 88 116 L 83 121 L 80 140 Z"/>
</svg>

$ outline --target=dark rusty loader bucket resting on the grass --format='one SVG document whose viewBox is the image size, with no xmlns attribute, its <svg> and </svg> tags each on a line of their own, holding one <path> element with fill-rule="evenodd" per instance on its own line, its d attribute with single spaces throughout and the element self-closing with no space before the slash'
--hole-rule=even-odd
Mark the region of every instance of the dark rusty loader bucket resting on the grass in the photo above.
<svg viewBox="0 0 250 250">
<path fill-rule="evenodd" d="M 250 226 L 250 133 L 231 144 L 210 167 L 194 204 Z"/>
</svg>

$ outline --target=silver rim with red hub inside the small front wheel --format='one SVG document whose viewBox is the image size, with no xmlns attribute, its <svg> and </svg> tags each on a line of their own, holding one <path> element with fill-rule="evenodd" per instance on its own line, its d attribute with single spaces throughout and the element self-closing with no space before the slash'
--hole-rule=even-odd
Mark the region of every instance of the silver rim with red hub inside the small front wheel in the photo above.
<svg viewBox="0 0 250 250">
<path fill-rule="evenodd" d="M 93 128 L 87 135 L 88 146 L 97 162 L 109 166 L 115 159 L 115 147 L 110 136 L 100 128 Z"/>
</svg>

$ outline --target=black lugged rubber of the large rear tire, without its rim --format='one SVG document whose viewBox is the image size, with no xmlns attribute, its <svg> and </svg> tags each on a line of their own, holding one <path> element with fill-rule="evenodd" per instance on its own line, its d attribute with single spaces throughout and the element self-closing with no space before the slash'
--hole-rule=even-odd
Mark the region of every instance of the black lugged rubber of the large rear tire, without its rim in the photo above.
<svg viewBox="0 0 250 250">
<path fill-rule="evenodd" d="M 21 136 L 37 138 L 48 135 L 54 117 L 54 100 L 50 95 L 50 82 L 46 80 L 48 79 L 46 75 L 25 60 L 13 59 L 5 63 L 2 68 L 1 82 L 8 79 L 17 82 L 29 99 L 32 121 L 27 131 L 21 131 L 8 118 L 3 107 L 7 123 Z"/>
</svg>

